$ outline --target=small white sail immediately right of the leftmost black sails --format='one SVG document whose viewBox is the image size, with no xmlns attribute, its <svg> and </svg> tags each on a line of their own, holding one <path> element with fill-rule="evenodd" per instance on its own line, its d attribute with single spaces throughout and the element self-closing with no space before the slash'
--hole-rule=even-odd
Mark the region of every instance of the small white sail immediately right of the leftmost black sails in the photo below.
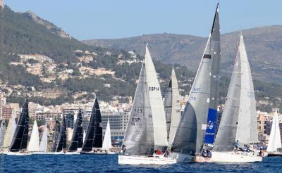
<svg viewBox="0 0 282 173">
<path fill-rule="evenodd" d="M 30 143 L 28 143 L 27 150 L 30 152 L 37 152 L 39 151 L 39 132 L 37 122 L 33 124 L 31 136 L 30 136 Z"/>
</svg>

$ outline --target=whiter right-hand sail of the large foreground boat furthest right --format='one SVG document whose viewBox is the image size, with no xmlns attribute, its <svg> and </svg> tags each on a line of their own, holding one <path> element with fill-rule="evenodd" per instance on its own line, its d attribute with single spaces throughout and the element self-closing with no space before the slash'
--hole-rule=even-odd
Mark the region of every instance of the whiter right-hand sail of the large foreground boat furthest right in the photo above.
<svg viewBox="0 0 282 173">
<path fill-rule="evenodd" d="M 248 144 L 258 141 L 258 129 L 254 85 L 243 34 L 240 34 L 238 54 L 241 60 L 241 89 L 236 139 L 240 143 Z"/>
</svg>

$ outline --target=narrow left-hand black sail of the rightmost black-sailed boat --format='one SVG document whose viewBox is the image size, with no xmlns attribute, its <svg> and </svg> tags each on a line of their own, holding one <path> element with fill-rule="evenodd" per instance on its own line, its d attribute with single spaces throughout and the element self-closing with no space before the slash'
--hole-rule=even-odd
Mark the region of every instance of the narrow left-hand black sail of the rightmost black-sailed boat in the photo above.
<svg viewBox="0 0 282 173">
<path fill-rule="evenodd" d="M 95 130 L 95 118 L 97 109 L 99 109 L 99 104 L 97 98 L 95 98 L 94 105 L 92 108 L 92 113 L 90 117 L 90 121 L 88 123 L 87 132 L 85 136 L 85 140 L 82 145 L 82 151 L 89 152 L 93 148 L 93 141 L 94 141 L 94 130 Z"/>
</svg>

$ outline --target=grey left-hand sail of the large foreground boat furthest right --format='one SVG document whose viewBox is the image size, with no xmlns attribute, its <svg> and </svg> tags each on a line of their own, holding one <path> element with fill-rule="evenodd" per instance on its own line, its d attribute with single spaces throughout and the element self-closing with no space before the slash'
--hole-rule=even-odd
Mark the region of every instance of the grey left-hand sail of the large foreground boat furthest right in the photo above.
<svg viewBox="0 0 282 173">
<path fill-rule="evenodd" d="M 240 106 L 241 65 L 240 53 L 237 52 L 231 81 L 226 96 L 226 105 L 221 116 L 221 123 L 216 134 L 214 150 L 231 151 L 236 140 L 237 122 Z"/>
</svg>

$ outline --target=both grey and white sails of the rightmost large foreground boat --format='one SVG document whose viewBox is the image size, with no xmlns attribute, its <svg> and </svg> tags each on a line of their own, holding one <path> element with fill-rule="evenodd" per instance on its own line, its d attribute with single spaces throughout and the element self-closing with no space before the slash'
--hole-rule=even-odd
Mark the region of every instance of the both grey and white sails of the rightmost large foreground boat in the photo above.
<svg viewBox="0 0 282 173">
<path fill-rule="evenodd" d="M 255 107 L 250 64 L 247 59 L 243 34 L 241 34 L 228 89 L 226 108 L 223 110 L 214 150 L 231 151 L 236 140 L 241 144 L 258 141 Z"/>
</svg>

